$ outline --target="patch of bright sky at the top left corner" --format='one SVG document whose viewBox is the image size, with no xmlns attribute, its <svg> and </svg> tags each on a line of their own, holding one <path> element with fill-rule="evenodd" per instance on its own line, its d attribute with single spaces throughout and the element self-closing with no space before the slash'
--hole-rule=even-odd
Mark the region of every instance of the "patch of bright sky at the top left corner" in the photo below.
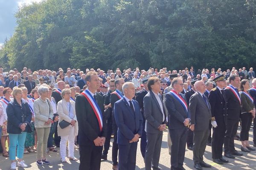
<svg viewBox="0 0 256 170">
<path fill-rule="evenodd" d="M 14 17 L 18 6 L 23 3 L 31 4 L 32 2 L 40 2 L 41 0 L 0 0 L 0 45 L 4 40 L 10 38 L 16 26 Z"/>
</svg>

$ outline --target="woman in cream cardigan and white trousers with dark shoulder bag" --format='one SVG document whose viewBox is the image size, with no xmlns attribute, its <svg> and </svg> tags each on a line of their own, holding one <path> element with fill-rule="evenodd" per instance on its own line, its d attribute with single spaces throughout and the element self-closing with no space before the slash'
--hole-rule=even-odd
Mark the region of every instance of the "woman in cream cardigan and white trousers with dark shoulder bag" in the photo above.
<svg viewBox="0 0 256 170">
<path fill-rule="evenodd" d="M 75 102 L 70 99 L 71 90 L 63 89 L 61 91 L 61 96 L 63 99 L 58 102 L 57 112 L 59 114 L 59 122 L 58 122 L 58 136 L 61 136 L 60 143 L 60 156 L 61 162 L 66 161 L 66 145 L 68 141 L 68 158 L 73 161 L 77 161 L 78 159 L 74 156 L 74 147 L 75 147 L 75 137 L 78 134 L 78 123 L 76 120 L 76 110 L 75 110 Z M 65 128 L 60 127 L 60 123 L 62 121 L 69 122 Z"/>
</svg>

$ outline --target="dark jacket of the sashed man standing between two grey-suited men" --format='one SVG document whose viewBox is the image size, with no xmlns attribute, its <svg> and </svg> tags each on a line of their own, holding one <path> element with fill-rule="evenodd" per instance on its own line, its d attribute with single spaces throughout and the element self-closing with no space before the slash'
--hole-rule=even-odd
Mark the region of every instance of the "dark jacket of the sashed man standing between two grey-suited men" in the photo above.
<svg viewBox="0 0 256 170">
<path fill-rule="evenodd" d="M 180 94 L 180 96 L 186 101 L 184 94 Z M 180 102 L 170 92 L 165 95 L 165 105 L 169 114 L 169 129 L 188 128 L 184 126 L 183 122 L 186 118 L 190 119 L 189 108 L 186 112 Z"/>
</svg>

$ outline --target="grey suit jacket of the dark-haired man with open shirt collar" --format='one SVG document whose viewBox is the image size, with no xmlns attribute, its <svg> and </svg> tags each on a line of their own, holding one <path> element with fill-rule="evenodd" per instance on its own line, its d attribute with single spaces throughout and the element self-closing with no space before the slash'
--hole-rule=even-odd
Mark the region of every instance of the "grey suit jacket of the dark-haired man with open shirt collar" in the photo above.
<svg viewBox="0 0 256 170">
<path fill-rule="evenodd" d="M 160 96 L 160 95 L 159 95 Z M 160 96 L 160 100 L 163 105 L 163 100 Z M 148 94 L 143 99 L 144 104 L 144 116 L 146 119 L 145 131 L 147 133 L 158 133 L 158 127 L 161 124 L 166 124 L 166 113 L 163 105 L 163 112 L 161 111 L 160 105 L 157 102 L 157 99 L 152 91 L 149 91 Z M 164 121 L 163 121 L 164 114 Z"/>
</svg>

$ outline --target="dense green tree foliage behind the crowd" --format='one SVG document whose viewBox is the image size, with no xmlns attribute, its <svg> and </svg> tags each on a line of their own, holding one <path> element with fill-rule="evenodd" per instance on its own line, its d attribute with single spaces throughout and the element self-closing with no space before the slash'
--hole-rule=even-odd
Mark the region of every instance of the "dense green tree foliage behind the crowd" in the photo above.
<svg viewBox="0 0 256 170">
<path fill-rule="evenodd" d="M 0 65 L 249 67 L 256 64 L 255 11 L 255 0 L 45 0 L 17 11 Z"/>
</svg>

